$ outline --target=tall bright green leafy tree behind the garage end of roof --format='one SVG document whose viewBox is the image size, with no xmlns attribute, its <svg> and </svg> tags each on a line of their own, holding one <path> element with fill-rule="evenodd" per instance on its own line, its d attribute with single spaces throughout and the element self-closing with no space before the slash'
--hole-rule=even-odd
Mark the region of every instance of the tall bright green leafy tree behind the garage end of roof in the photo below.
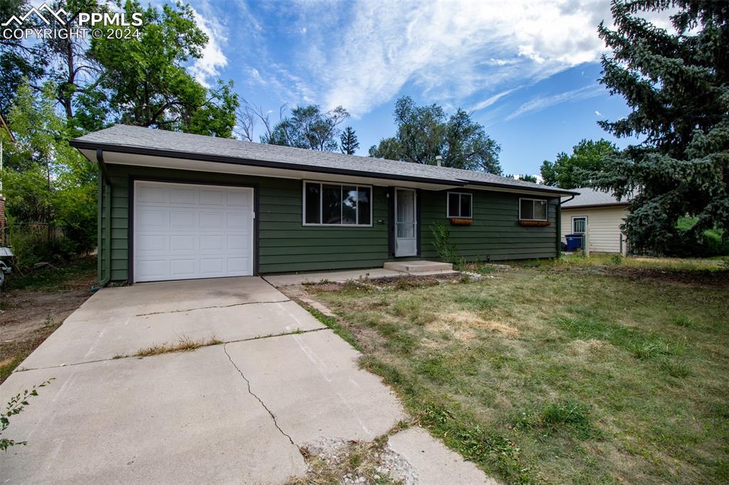
<svg viewBox="0 0 729 485">
<path fill-rule="evenodd" d="M 165 4 L 160 12 L 128 0 L 124 11 L 127 17 L 142 12 L 139 41 L 103 37 L 93 39 L 90 47 L 91 58 L 103 69 L 100 85 L 109 116 L 130 125 L 230 137 L 238 108 L 233 83 L 218 82 L 207 90 L 185 69 L 208 42 L 192 8 Z M 99 106 L 94 103 L 98 95 L 79 102 L 87 109 Z M 92 111 L 88 118 L 102 116 Z"/>
</svg>

